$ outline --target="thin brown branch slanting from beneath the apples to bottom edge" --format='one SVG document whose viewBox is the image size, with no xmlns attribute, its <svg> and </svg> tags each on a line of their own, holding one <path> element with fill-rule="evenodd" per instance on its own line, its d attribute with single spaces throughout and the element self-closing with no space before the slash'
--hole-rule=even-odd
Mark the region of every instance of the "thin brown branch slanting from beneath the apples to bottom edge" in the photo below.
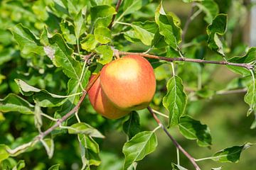
<svg viewBox="0 0 256 170">
<path fill-rule="evenodd" d="M 193 157 L 191 157 L 190 154 L 188 154 L 188 152 L 186 152 L 185 149 L 183 149 L 183 147 L 181 147 L 181 145 L 178 144 L 178 142 L 174 139 L 173 136 L 171 136 L 171 134 L 168 132 L 168 130 L 164 127 L 164 125 L 161 123 L 161 121 L 159 120 L 159 118 L 157 118 L 156 114 L 152 111 L 151 107 L 147 107 L 147 109 L 149 110 L 149 112 L 151 113 L 151 115 L 153 115 L 154 120 L 156 120 L 156 123 L 164 130 L 164 132 L 166 133 L 166 135 L 168 135 L 168 137 L 171 139 L 171 141 L 174 143 L 174 145 L 183 153 L 185 154 L 185 156 L 189 159 L 189 161 L 193 164 L 193 166 L 195 167 L 196 170 L 201 170 L 200 167 L 198 166 L 198 164 L 196 164 L 196 161 Z"/>
</svg>

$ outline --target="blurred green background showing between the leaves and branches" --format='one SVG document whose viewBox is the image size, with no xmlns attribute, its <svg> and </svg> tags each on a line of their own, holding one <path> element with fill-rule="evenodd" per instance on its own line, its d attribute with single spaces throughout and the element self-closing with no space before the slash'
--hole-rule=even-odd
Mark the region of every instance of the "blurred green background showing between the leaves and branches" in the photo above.
<svg viewBox="0 0 256 170">
<path fill-rule="evenodd" d="M 37 19 L 31 16 L 31 5 L 36 1 L 14 1 L 13 6 L 4 6 L 6 1 L 0 1 L 0 98 L 4 98 L 9 93 L 18 94 L 18 89 L 14 83 L 15 78 L 26 79 L 25 75 L 19 72 L 27 72 L 31 65 L 40 65 L 41 60 L 25 61 L 20 57 L 17 51 L 18 47 L 11 33 L 7 30 L 10 26 L 22 22 L 25 26 L 34 28 L 34 32 L 40 32 L 42 26 Z M 228 13 L 228 31 L 225 34 L 227 44 L 225 51 L 228 52 L 227 57 L 234 55 L 242 55 L 245 52 L 248 42 L 247 28 L 250 25 L 249 14 L 251 4 L 248 1 L 231 1 L 231 0 L 216 0 L 220 8 L 220 13 Z M 155 3 L 155 4 L 154 4 Z M 153 1 L 155 6 L 159 1 Z M 16 6 L 16 8 L 14 8 Z M 185 4 L 181 0 L 164 1 L 166 11 L 175 13 L 181 19 L 181 28 L 191 11 L 191 4 Z M 24 11 L 23 11 L 24 10 Z M 28 12 L 29 11 L 29 12 Z M 191 42 L 198 35 L 206 35 L 206 21 L 203 20 L 205 14 L 200 13 L 188 27 L 184 44 Z M 11 20 L 10 20 L 11 18 Z M 53 22 L 53 21 L 48 21 Z M 56 26 L 57 27 L 57 26 Z M 137 45 L 137 44 L 136 44 Z M 135 45 L 135 46 L 136 46 Z M 132 45 L 131 45 L 132 46 Z M 132 48 L 132 47 L 131 47 Z M 144 46 L 137 46 L 144 49 Z M 6 50 L 7 49 L 7 50 Z M 188 47 L 185 50 L 186 57 L 205 58 L 206 60 L 221 60 L 221 57 L 215 55 L 210 50 L 207 50 L 206 44 L 201 42 L 196 47 Z M 35 64 L 36 63 L 36 64 Z M 33 69 L 41 69 L 33 68 Z M 40 73 L 35 73 L 29 77 L 29 84 L 47 89 L 50 92 L 62 91 L 65 94 L 66 82 L 60 69 L 48 69 L 50 74 L 44 74 L 43 79 Z M 210 157 L 215 152 L 225 147 L 234 145 L 242 145 L 244 142 L 256 143 L 256 130 L 251 130 L 250 125 L 255 119 L 254 115 L 246 116 L 248 106 L 243 101 L 245 93 L 213 95 L 208 98 L 198 97 L 191 89 L 196 89 L 198 86 L 198 75 L 201 77 L 201 87 L 206 87 L 212 91 L 220 91 L 227 89 L 227 85 L 233 79 L 238 79 L 240 76 L 230 72 L 229 69 L 223 66 L 201 64 L 179 64 L 176 67 L 177 74 L 183 79 L 183 84 L 186 86 L 186 94 L 189 96 L 186 113 L 193 115 L 196 120 L 201 120 L 201 123 L 208 125 L 213 138 L 211 148 L 198 147 L 196 141 L 186 140 L 176 128 L 169 130 L 176 140 L 196 159 L 202 157 Z M 166 81 L 171 77 L 171 66 L 167 64 L 161 65 L 156 69 L 156 79 L 158 84 L 158 92 L 152 103 L 152 107 L 163 113 L 166 110 L 163 106 L 159 106 L 161 98 L 164 96 L 166 89 Z M 232 84 L 231 84 L 232 85 Z M 231 86 L 230 85 L 230 86 Z M 237 87 L 237 86 L 235 86 Z M 208 91 L 210 93 L 210 91 Z M 43 109 L 45 113 L 53 115 L 54 108 Z M 167 113 L 166 113 L 167 114 Z M 139 111 L 141 118 L 142 130 L 153 130 L 156 128 L 156 123 L 152 120 L 151 115 L 146 111 Z M 104 135 L 105 140 L 98 140 L 100 145 L 102 164 L 100 170 L 119 170 L 122 168 L 124 156 L 122 154 L 122 145 L 126 142 L 127 137 L 122 132 L 122 122 L 127 118 L 120 120 L 106 120 L 93 111 L 86 98 L 80 108 L 80 119 L 89 123 L 93 127 L 99 129 Z M 163 122 L 167 123 L 164 118 Z M 43 119 L 44 128 L 47 129 L 50 121 Z M 75 122 L 75 118 L 71 118 L 70 123 Z M 28 141 L 35 135 L 36 128 L 33 123 L 33 116 L 21 115 L 20 113 L 0 113 L 0 143 L 15 146 L 18 145 L 19 137 L 26 137 Z M 166 170 L 171 169 L 171 162 L 176 163 L 176 148 L 171 143 L 168 137 L 158 130 L 157 132 L 159 145 L 156 151 L 141 162 L 137 169 L 139 170 Z M 5 164 L 14 164 L 18 160 L 25 160 L 25 169 L 48 169 L 53 164 L 60 164 L 60 169 L 79 169 L 81 166 L 79 143 L 76 135 L 58 135 L 55 137 L 55 153 L 52 159 L 48 159 L 45 149 L 41 145 L 36 145 L 36 149 L 31 152 L 21 154 L 16 158 L 6 159 L 1 163 L 0 169 Z M 24 139 L 22 142 L 26 141 Z M 181 165 L 188 169 L 193 169 L 188 159 L 180 153 Z M 238 164 L 219 164 L 211 160 L 199 162 L 202 169 L 210 169 L 213 167 L 223 166 L 223 169 L 256 169 L 256 147 L 242 152 L 242 157 Z M 93 169 L 93 168 L 92 168 Z M 96 168 L 95 168 L 96 169 Z"/>
</svg>

